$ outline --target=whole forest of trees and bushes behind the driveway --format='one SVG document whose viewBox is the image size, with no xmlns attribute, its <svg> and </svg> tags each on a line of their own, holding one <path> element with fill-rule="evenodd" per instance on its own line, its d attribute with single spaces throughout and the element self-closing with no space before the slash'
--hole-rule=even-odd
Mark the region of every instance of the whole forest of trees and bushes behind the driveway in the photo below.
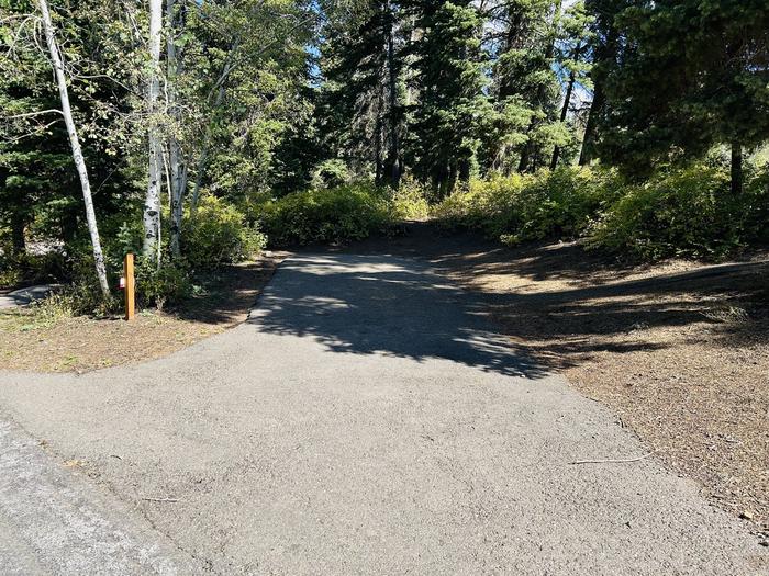
<svg viewBox="0 0 769 576">
<path fill-rule="evenodd" d="M 761 0 L 0 0 L 0 285 L 105 312 L 436 218 L 722 259 L 769 238 Z M 92 206 L 92 208 L 89 208 Z"/>
</svg>

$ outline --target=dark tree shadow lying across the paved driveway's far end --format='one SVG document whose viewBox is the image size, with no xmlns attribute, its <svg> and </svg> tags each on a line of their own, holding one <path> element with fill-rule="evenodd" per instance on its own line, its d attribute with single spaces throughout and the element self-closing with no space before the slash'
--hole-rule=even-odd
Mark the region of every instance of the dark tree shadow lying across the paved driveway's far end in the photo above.
<svg viewBox="0 0 769 576">
<path fill-rule="evenodd" d="M 338 353 L 445 359 L 511 376 L 548 374 L 495 334 L 473 294 L 416 260 L 298 255 L 280 266 L 248 321 L 263 332 L 310 337 Z"/>
</svg>

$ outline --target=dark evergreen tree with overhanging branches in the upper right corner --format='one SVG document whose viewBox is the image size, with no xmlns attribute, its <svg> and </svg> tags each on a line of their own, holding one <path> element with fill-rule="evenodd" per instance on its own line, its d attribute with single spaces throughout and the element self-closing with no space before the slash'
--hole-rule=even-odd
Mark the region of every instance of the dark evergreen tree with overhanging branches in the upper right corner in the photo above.
<svg viewBox="0 0 769 576">
<path fill-rule="evenodd" d="M 612 127 L 602 149 L 637 171 L 769 137 L 769 10 L 760 0 L 642 2 L 617 19 L 623 66 L 609 77 Z"/>
</svg>

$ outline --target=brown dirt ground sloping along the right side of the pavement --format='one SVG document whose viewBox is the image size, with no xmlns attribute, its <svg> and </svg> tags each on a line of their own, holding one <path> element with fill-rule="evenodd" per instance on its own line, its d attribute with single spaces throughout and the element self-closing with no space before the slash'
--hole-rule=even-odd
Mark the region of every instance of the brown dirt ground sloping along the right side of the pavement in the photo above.
<svg viewBox="0 0 769 576">
<path fill-rule="evenodd" d="M 623 266 L 573 244 L 410 231 L 389 250 L 422 252 L 483 294 L 517 348 L 611 407 L 769 545 L 769 250 Z"/>
</svg>

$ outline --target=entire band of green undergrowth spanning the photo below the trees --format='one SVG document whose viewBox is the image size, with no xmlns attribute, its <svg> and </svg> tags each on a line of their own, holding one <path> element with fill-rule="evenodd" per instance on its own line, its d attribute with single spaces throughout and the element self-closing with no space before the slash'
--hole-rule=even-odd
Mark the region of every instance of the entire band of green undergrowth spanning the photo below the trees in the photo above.
<svg viewBox="0 0 769 576">
<path fill-rule="evenodd" d="M 580 239 L 588 249 L 627 259 L 691 257 L 718 260 L 740 248 L 769 241 L 769 173 L 749 169 L 744 192 L 729 191 L 726 168 L 695 165 L 660 171 L 643 183 L 601 168 L 560 168 L 535 174 L 472 180 L 439 202 L 405 181 L 393 192 L 370 182 L 254 196 L 233 205 L 202 197 L 182 229 L 185 257 L 164 244 L 163 264 L 137 260 L 141 306 L 161 308 L 204 293 L 207 271 L 255 257 L 274 247 L 344 244 L 395 234 L 406 218 L 432 217 L 446 230 L 476 230 L 513 246 L 534 240 Z M 133 215 L 133 216 L 137 216 Z M 132 223 L 132 224 L 129 224 Z M 116 286 L 123 256 L 141 253 L 138 217 L 108 223 L 104 251 Z M 0 284 L 60 282 L 66 285 L 41 309 L 43 317 L 104 314 L 119 302 L 99 296 L 85 237 L 35 255 L 0 251 Z"/>
</svg>

